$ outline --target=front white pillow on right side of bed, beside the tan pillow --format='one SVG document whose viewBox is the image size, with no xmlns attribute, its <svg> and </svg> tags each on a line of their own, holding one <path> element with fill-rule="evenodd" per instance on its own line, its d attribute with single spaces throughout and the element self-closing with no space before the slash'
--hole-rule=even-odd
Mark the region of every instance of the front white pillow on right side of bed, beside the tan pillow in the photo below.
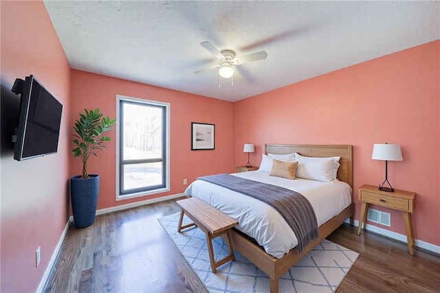
<svg viewBox="0 0 440 293">
<path fill-rule="evenodd" d="M 333 182 L 333 159 L 314 158 L 301 159 L 294 158 L 292 161 L 298 161 L 296 167 L 296 178 L 304 178 L 322 182 Z"/>
</svg>

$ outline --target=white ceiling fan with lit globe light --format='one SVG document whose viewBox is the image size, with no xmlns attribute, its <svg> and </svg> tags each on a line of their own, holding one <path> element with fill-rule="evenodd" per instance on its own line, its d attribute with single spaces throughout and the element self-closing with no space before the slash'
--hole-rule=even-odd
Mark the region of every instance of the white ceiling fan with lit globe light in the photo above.
<svg viewBox="0 0 440 293">
<path fill-rule="evenodd" d="M 254 62 L 258 60 L 264 60 L 267 58 L 266 51 L 259 51 L 252 54 L 235 57 L 235 52 L 232 50 L 217 50 L 208 40 L 205 40 L 200 43 L 200 45 L 211 52 L 212 55 L 219 58 L 220 62 L 217 65 L 206 67 L 203 69 L 199 69 L 194 71 L 195 74 L 202 73 L 203 71 L 208 71 L 212 69 L 219 68 L 219 75 L 222 78 L 231 78 L 234 73 L 239 77 L 242 77 L 239 71 L 236 69 L 237 65 L 242 65 L 249 62 Z"/>
</svg>

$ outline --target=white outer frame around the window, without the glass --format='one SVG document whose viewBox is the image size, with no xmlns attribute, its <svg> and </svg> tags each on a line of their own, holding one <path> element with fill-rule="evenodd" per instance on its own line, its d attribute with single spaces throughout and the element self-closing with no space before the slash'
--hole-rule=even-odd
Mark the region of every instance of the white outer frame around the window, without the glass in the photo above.
<svg viewBox="0 0 440 293">
<path fill-rule="evenodd" d="M 146 105 L 162 106 L 166 111 L 166 126 L 165 126 L 165 187 L 151 189 L 148 191 L 139 191 L 132 194 L 120 194 L 120 102 L 135 102 Z M 129 198 L 138 198 L 140 196 L 148 196 L 151 194 L 159 194 L 170 191 L 170 103 L 154 101 L 151 99 L 141 99 L 138 97 L 128 97 L 125 95 L 116 95 L 116 200 L 127 200 Z"/>
</svg>

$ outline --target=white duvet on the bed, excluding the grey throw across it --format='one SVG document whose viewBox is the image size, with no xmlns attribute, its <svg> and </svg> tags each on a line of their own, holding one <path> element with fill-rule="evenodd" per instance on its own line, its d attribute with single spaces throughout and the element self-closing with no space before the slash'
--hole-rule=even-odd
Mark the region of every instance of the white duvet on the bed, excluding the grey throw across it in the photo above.
<svg viewBox="0 0 440 293">
<path fill-rule="evenodd" d="M 290 180 L 260 171 L 232 175 L 278 185 L 303 194 L 314 208 L 318 226 L 325 224 L 351 204 L 351 187 L 342 181 L 323 183 L 300 178 Z M 191 183 L 185 194 L 200 198 L 238 220 L 239 224 L 235 227 L 254 238 L 266 253 L 276 258 L 283 257 L 298 245 L 292 228 L 278 211 L 265 202 L 203 180 Z"/>
</svg>

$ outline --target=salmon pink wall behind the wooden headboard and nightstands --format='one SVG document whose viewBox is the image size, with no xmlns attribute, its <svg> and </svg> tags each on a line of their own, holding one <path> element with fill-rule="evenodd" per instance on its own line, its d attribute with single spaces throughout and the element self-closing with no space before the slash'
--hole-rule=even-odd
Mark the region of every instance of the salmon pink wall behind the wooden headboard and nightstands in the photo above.
<svg viewBox="0 0 440 293">
<path fill-rule="evenodd" d="M 399 143 L 404 161 L 388 163 L 388 180 L 417 193 L 415 237 L 439 246 L 439 55 L 437 40 L 234 103 L 235 165 L 246 161 L 245 142 L 256 144 L 255 165 L 265 143 L 353 145 L 358 219 L 358 187 L 384 180 L 373 144 Z M 374 208 L 391 212 L 389 229 L 405 235 L 401 213 Z"/>
</svg>

